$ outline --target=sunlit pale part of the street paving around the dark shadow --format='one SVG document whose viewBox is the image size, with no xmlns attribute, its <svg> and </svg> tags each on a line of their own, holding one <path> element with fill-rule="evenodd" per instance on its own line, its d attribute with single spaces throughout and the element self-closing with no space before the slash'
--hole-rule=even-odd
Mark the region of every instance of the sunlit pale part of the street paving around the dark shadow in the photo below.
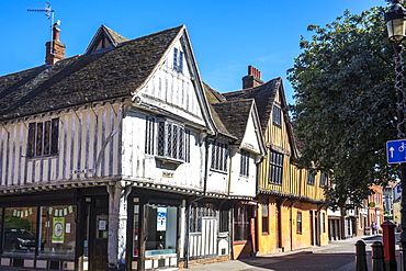
<svg viewBox="0 0 406 271">
<path fill-rule="evenodd" d="M 381 235 L 353 237 L 353 238 L 348 238 L 345 240 L 334 240 L 334 241 L 330 241 L 327 246 L 323 246 L 323 247 L 319 247 L 319 246 L 309 247 L 309 248 L 297 249 L 297 250 L 287 251 L 287 252 L 264 255 L 260 257 L 250 257 L 250 258 L 245 258 L 240 260 L 229 260 L 229 261 L 222 261 L 222 262 L 207 263 L 207 264 L 201 264 L 201 266 L 193 266 L 193 267 L 190 267 L 189 270 L 193 270 L 193 271 L 240 271 L 240 270 L 264 271 L 264 270 L 268 270 L 269 271 L 270 262 L 277 260 L 274 258 L 278 258 L 278 257 L 286 257 L 290 255 L 294 256 L 295 253 L 353 253 L 353 261 L 337 269 L 337 271 L 350 271 L 350 270 L 356 269 L 356 246 L 354 244 L 360 239 L 364 240 L 366 245 L 365 249 L 366 249 L 366 261 L 369 266 L 368 270 L 372 270 L 371 245 L 374 241 L 382 241 Z M 397 258 L 396 259 L 397 269 L 401 270 L 399 269 L 401 256 L 399 256 L 398 245 L 396 245 L 396 258 Z"/>
</svg>

